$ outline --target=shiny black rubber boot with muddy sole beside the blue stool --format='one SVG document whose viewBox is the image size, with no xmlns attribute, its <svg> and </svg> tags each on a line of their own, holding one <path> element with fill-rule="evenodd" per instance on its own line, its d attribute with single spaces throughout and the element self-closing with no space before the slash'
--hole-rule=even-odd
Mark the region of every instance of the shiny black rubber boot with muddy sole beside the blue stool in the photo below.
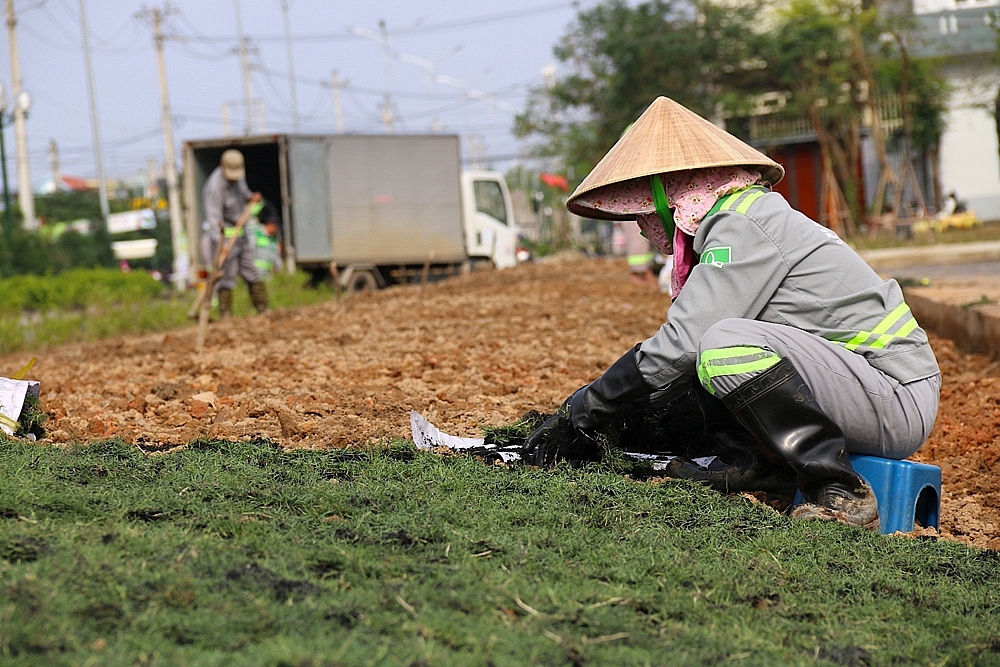
<svg viewBox="0 0 1000 667">
<path fill-rule="evenodd" d="M 878 530 L 878 501 L 851 467 L 843 431 L 787 359 L 744 382 L 723 403 L 769 459 L 795 470 L 804 502 L 793 517 Z"/>
</svg>

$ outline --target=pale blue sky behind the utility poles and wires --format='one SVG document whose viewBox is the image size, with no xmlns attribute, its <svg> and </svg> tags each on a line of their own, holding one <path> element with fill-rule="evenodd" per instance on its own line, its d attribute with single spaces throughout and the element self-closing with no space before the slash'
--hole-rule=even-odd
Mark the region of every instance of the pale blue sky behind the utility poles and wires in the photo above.
<svg viewBox="0 0 1000 667">
<path fill-rule="evenodd" d="M 6 3 L 8 0 L 4 0 Z M 108 177 L 128 177 L 152 158 L 164 161 L 152 24 L 138 0 L 85 3 L 97 116 Z M 393 130 L 462 135 L 466 161 L 506 168 L 528 144 L 511 134 L 514 114 L 543 71 L 556 65 L 553 46 L 580 7 L 597 0 L 172 0 L 164 21 L 165 60 L 178 164 L 188 139 L 243 134 L 248 124 L 273 132 L 336 131 L 337 70 L 346 132 Z M 63 174 L 93 177 L 95 167 L 81 0 L 14 0 L 33 186 L 50 173 L 49 144 Z M 296 104 L 289 77 L 284 13 L 291 33 Z M 245 113 L 237 9 L 248 44 L 254 118 Z M 380 35 L 385 22 L 389 42 Z M 4 26 L 6 27 L 6 26 Z M 10 43 L 0 30 L 0 85 L 10 99 Z M 386 53 L 391 57 L 386 57 Z M 263 109 L 261 117 L 260 109 Z M 16 189 L 13 127 L 5 126 L 8 174 Z"/>
</svg>

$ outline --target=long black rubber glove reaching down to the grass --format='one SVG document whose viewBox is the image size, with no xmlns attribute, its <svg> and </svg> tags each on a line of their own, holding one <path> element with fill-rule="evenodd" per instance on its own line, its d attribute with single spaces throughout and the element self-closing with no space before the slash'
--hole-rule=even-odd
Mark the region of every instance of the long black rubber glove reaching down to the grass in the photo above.
<svg viewBox="0 0 1000 667">
<path fill-rule="evenodd" d="M 646 384 L 635 353 L 639 345 L 626 352 L 604 375 L 580 387 L 567 398 L 554 416 L 528 436 L 523 458 L 532 465 L 548 465 L 574 446 L 592 449 L 597 431 L 607 426 L 626 408 L 649 402 L 653 389 Z"/>
</svg>

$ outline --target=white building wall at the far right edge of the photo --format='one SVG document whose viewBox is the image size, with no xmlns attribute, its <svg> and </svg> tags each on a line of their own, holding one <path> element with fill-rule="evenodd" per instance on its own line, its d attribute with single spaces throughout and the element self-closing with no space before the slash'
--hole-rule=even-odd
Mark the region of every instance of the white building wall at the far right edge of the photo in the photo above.
<svg viewBox="0 0 1000 667">
<path fill-rule="evenodd" d="M 960 67 L 949 72 L 953 92 L 941 139 L 941 186 L 954 190 L 983 220 L 1000 220 L 1000 151 L 991 113 L 1000 71 Z"/>
</svg>

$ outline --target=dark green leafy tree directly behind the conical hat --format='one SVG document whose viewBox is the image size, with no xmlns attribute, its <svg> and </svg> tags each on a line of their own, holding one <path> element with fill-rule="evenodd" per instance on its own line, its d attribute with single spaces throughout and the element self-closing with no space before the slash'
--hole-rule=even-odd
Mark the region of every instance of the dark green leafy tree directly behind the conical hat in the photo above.
<svg viewBox="0 0 1000 667">
<path fill-rule="evenodd" d="M 515 121 L 539 154 L 585 175 L 659 95 L 714 118 L 765 80 L 762 0 L 607 0 L 580 12 L 555 49 L 568 73 L 529 96 Z"/>
</svg>

